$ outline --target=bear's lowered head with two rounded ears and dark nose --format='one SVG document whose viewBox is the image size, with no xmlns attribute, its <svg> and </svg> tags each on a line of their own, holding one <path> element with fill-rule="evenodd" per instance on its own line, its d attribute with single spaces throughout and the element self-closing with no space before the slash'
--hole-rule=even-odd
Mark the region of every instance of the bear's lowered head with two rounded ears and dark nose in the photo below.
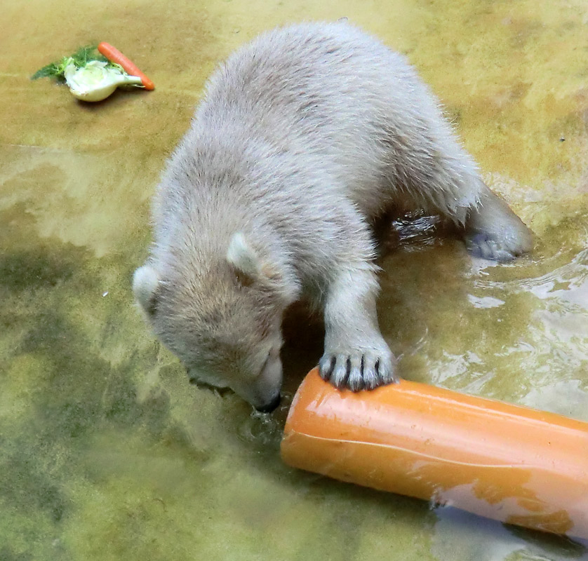
<svg viewBox="0 0 588 561">
<path fill-rule="evenodd" d="M 281 321 L 297 290 L 241 233 L 225 255 L 207 260 L 148 261 L 133 276 L 135 298 L 191 381 L 231 388 L 256 409 L 273 410 L 282 383 Z"/>
</svg>

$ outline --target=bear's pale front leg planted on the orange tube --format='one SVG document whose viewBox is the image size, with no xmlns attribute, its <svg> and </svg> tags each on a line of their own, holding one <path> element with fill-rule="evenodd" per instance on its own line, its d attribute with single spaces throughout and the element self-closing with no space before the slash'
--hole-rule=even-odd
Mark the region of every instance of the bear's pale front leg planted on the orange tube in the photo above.
<svg viewBox="0 0 588 561">
<path fill-rule="evenodd" d="M 377 280 L 369 264 L 340 271 L 325 302 L 321 377 L 337 388 L 373 389 L 398 381 L 394 356 L 377 326 Z"/>
</svg>

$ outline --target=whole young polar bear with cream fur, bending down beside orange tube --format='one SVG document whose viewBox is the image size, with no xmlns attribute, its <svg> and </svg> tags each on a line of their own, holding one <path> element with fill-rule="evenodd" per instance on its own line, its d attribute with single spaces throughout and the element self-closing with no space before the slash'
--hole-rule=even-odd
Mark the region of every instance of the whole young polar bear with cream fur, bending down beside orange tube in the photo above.
<svg viewBox="0 0 588 561">
<path fill-rule="evenodd" d="M 276 29 L 211 77 L 159 185 L 135 295 L 194 377 L 255 406 L 279 392 L 281 318 L 300 297 L 325 316 L 324 378 L 389 383 L 368 224 L 399 205 L 448 217 L 477 255 L 530 249 L 401 55 L 346 23 Z"/>
</svg>

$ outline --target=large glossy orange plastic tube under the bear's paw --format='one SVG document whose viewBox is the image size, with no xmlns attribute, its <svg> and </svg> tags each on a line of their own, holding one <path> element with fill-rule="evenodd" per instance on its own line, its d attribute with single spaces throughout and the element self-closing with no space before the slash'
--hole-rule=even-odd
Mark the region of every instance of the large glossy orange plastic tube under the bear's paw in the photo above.
<svg viewBox="0 0 588 561">
<path fill-rule="evenodd" d="M 338 391 L 316 370 L 296 393 L 286 464 L 588 539 L 588 423 L 402 380 Z"/>
</svg>

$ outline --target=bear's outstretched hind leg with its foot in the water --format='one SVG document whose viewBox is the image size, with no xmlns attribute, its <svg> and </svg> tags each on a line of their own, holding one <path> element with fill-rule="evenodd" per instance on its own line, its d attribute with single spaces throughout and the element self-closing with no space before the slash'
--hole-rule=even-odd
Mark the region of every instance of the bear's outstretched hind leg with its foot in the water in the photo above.
<svg viewBox="0 0 588 561">
<path fill-rule="evenodd" d="M 473 255 L 508 261 L 530 251 L 530 230 L 505 201 L 488 189 L 474 159 L 457 142 L 434 98 L 423 89 L 413 99 L 413 126 L 400 126 L 394 117 L 389 126 L 389 130 L 396 131 L 389 136 L 394 196 L 408 199 L 409 208 L 412 203 L 448 217 L 462 229 Z"/>
</svg>

